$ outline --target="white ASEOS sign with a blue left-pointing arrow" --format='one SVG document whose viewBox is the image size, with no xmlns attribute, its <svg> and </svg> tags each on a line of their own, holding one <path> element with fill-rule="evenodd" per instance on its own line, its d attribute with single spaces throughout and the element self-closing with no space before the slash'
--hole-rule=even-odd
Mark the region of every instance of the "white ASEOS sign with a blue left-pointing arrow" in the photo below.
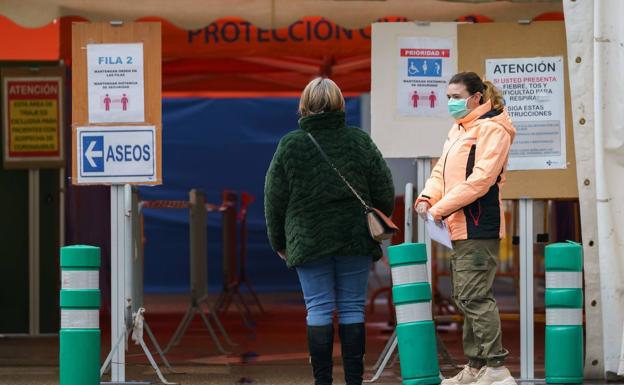
<svg viewBox="0 0 624 385">
<path fill-rule="evenodd" d="M 154 126 L 78 127 L 78 183 L 141 183 L 156 180 Z"/>
</svg>

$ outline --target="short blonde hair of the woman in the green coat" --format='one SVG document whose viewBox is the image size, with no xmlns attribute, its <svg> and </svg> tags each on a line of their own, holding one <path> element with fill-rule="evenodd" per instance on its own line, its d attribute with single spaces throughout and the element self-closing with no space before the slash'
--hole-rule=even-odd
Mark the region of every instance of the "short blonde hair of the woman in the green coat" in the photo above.
<svg viewBox="0 0 624 385">
<path fill-rule="evenodd" d="M 333 80 L 318 77 L 301 93 L 299 115 L 302 117 L 322 112 L 344 111 L 344 97 Z"/>
</svg>

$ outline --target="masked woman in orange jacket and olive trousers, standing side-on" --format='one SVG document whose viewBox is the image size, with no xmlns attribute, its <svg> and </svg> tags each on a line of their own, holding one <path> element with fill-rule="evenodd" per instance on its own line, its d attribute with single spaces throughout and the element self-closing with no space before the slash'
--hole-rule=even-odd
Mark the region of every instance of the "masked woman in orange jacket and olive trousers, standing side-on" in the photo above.
<svg viewBox="0 0 624 385">
<path fill-rule="evenodd" d="M 500 317 L 492 284 L 505 222 L 501 189 L 515 129 L 500 92 L 474 72 L 447 89 L 455 119 L 442 156 L 416 201 L 421 216 L 446 220 L 453 240 L 453 299 L 464 315 L 468 364 L 443 385 L 515 385 L 504 366 Z"/>
</svg>

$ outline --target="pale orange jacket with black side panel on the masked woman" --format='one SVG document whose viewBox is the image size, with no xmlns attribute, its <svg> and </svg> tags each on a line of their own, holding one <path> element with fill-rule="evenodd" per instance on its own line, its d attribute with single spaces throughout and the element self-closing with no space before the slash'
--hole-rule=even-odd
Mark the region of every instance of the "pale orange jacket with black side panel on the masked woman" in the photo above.
<svg viewBox="0 0 624 385">
<path fill-rule="evenodd" d="M 445 218 L 454 241 L 502 239 L 501 189 L 516 130 L 506 109 L 490 102 L 458 120 L 416 203 L 427 201 L 434 218 Z"/>
</svg>

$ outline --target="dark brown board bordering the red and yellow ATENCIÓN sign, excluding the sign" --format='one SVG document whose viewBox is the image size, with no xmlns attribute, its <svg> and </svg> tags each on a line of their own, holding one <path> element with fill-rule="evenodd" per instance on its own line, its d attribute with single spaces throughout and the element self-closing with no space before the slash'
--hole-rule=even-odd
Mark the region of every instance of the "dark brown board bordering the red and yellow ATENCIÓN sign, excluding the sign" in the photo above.
<svg viewBox="0 0 624 385">
<path fill-rule="evenodd" d="M 58 154 L 51 156 L 36 157 L 12 157 L 9 158 L 5 147 L 8 147 L 8 95 L 2 92 L 2 144 L 3 144 L 3 160 L 6 169 L 28 169 L 28 168 L 62 168 L 65 166 L 65 67 L 14 67 L 3 68 L 0 71 L 0 81 L 4 88 L 5 80 L 28 79 L 33 81 L 51 80 L 58 82 L 58 104 L 57 119 L 58 132 L 56 134 L 58 140 Z M 55 150 L 56 151 L 56 150 Z M 9 159 L 7 159 L 9 158 Z"/>
</svg>

